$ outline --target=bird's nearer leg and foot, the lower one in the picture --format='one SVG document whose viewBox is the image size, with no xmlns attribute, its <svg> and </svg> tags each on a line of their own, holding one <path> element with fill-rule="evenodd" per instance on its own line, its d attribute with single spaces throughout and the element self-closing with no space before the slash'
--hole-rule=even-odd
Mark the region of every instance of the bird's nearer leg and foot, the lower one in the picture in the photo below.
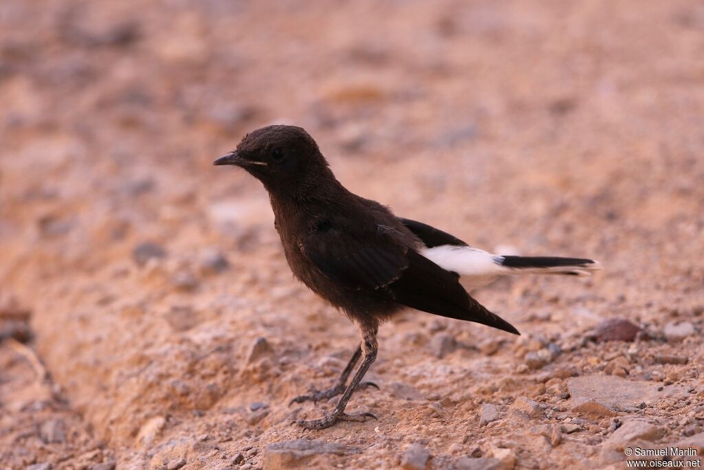
<svg viewBox="0 0 704 470">
<path fill-rule="evenodd" d="M 330 412 L 329 414 L 325 414 L 325 416 L 320 419 L 313 419 L 310 421 L 298 421 L 298 424 L 300 424 L 306 429 L 325 429 L 337 423 L 337 421 L 365 421 L 367 418 L 377 419 L 377 417 L 375 417 L 371 413 L 345 413 L 345 407 L 347 406 L 347 402 L 352 397 L 354 391 L 357 390 L 358 386 L 360 385 L 360 382 L 364 377 L 364 374 L 367 373 L 367 370 L 372 365 L 372 362 L 374 362 L 374 360 L 377 358 L 377 326 L 363 326 L 362 338 L 362 344 L 360 345 L 362 363 L 359 365 L 357 371 L 352 377 L 352 381 L 349 383 L 347 388 L 345 388 L 344 393 L 342 393 L 340 400 L 337 402 L 337 405 L 335 405 L 332 412 Z"/>
</svg>

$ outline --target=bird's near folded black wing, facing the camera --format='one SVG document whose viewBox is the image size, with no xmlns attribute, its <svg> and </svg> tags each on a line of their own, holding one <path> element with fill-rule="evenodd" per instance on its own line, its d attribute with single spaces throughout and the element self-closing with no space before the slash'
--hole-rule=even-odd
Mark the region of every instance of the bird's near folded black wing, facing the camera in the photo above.
<svg viewBox="0 0 704 470">
<path fill-rule="evenodd" d="M 335 229 L 303 241 L 304 255 L 333 281 L 442 317 L 477 322 L 518 334 L 508 322 L 486 310 L 446 271 L 410 248 L 384 236 L 359 241 Z"/>
</svg>

